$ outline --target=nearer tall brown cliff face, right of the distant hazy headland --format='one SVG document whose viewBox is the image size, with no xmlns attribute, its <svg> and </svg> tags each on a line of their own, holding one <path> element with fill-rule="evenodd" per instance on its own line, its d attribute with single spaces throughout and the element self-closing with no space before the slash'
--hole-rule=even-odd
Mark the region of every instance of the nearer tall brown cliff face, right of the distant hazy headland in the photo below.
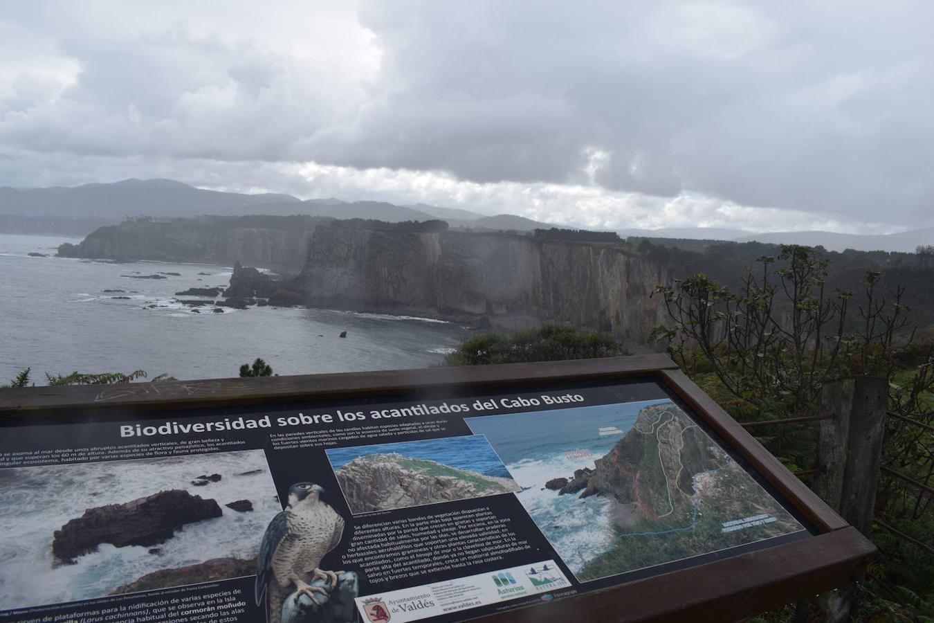
<svg viewBox="0 0 934 623">
<path fill-rule="evenodd" d="M 667 278 L 614 244 L 320 227 L 291 287 L 314 306 L 559 321 L 644 342 L 663 319 L 649 294 Z"/>
</svg>

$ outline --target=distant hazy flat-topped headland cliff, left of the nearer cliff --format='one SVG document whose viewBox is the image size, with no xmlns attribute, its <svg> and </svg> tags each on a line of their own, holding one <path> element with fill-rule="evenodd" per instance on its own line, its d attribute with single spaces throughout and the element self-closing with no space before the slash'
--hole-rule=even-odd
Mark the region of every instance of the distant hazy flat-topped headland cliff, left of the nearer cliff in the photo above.
<svg viewBox="0 0 934 623">
<path fill-rule="evenodd" d="M 118 262 L 241 262 L 297 273 L 304 265 L 311 234 L 321 221 L 330 219 L 134 219 L 98 228 L 78 245 L 64 244 L 59 255 Z"/>
</svg>

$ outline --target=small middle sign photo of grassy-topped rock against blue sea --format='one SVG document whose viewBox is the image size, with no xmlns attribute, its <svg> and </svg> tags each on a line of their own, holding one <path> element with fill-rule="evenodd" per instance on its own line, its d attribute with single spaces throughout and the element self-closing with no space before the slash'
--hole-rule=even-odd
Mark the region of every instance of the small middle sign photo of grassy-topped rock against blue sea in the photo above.
<svg viewBox="0 0 934 623">
<path fill-rule="evenodd" d="M 327 450 L 357 515 L 519 490 L 482 435 Z"/>
</svg>

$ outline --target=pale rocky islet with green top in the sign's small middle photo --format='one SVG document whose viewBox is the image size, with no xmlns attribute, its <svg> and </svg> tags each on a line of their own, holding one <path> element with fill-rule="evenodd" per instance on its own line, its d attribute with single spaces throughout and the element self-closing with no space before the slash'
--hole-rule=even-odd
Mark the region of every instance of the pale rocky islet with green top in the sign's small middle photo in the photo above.
<svg viewBox="0 0 934 623">
<path fill-rule="evenodd" d="M 353 513 L 466 500 L 517 491 L 512 478 L 477 474 L 401 454 L 371 454 L 336 472 Z"/>
</svg>

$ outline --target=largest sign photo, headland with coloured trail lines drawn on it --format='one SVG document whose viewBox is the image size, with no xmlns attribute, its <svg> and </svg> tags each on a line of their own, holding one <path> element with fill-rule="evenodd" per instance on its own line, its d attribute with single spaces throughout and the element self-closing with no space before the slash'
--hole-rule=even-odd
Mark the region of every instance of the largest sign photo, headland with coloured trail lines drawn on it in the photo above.
<svg viewBox="0 0 934 623">
<path fill-rule="evenodd" d="M 466 421 L 580 581 L 804 530 L 667 399 Z"/>
</svg>

